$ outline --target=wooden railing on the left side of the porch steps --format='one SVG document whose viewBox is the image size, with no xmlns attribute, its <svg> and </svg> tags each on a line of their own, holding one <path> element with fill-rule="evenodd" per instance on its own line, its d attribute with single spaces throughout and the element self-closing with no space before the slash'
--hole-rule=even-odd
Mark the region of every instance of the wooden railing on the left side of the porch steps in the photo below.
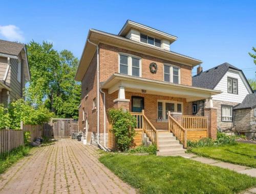
<svg viewBox="0 0 256 194">
<path fill-rule="evenodd" d="M 150 120 L 145 116 L 144 110 L 142 110 L 142 113 L 131 113 L 131 115 L 136 118 L 137 128 L 142 128 L 143 132 L 150 138 L 152 143 L 156 144 L 158 149 L 158 132 Z"/>
</svg>

